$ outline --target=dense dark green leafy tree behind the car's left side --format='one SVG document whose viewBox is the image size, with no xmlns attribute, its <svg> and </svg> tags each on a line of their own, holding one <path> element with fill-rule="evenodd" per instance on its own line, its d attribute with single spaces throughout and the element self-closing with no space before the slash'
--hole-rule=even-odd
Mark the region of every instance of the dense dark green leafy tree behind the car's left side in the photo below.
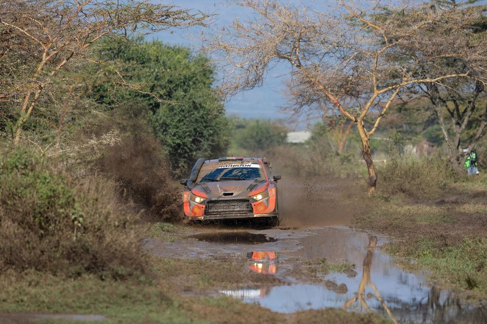
<svg viewBox="0 0 487 324">
<path fill-rule="evenodd" d="M 200 157 L 222 155 L 228 146 L 225 109 L 211 88 L 213 67 L 206 56 L 193 55 L 184 47 L 169 47 L 160 41 L 137 46 L 106 40 L 102 57 L 121 60 L 131 74 L 126 80 L 145 84 L 139 92 L 112 95 L 110 84 L 99 87 L 94 97 L 116 107 L 119 102 L 137 101 L 150 111 L 150 124 L 162 141 L 171 168 L 186 175 Z"/>
</svg>

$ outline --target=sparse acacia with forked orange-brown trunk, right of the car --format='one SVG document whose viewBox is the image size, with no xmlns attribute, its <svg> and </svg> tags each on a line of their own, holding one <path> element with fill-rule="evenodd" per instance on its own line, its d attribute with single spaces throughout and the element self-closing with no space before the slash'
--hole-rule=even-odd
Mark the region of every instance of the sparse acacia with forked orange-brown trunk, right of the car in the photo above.
<svg viewBox="0 0 487 324">
<path fill-rule="evenodd" d="M 260 86 L 278 61 L 289 63 L 291 84 L 302 93 L 297 105 L 324 102 L 355 124 L 369 173 L 369 194 L 375 192 L 377 181 L 369 140 L 400 92 L 469 75 L 420 75 L 418 62 L 398 50 L 402 43 L 420 38 L 432 24 L 456 12 L 406 4 L 360 9 L 341 2 L 337 8 L 318 11 L 276 0 L 235 3 L 251 8 L 255 16 L 245 22 L 236 19 L 230 27 L 204 39 L 205 49 L 225 68 L 224 93 L 234 95 Z M 414 10 L 414 15 L 401 14 L 405 10 Z M 452 48 L 450 54 L 464 51 Z"/>
</svg>

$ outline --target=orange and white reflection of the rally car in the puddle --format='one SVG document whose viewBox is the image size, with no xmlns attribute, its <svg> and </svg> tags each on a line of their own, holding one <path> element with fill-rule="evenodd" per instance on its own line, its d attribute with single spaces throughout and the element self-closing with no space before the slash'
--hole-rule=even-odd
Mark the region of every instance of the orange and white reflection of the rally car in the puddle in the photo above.
<svg viewBox="0 0 487 324">
<path fill-rule="evenodd" d="M 248 269 L 257 273 L 276 274 L 277 273 L 277 254 L 276 252 L 266 251 L 252 251 L 246 253 L 247 258 L 250 260 Z M 258 289 L 244 288 L 237 290 L 220 290 L 220 293 L 244 300 L 256 300 L 267 296 L 272 290 L 272 287 L 262 287 Z"/>
</svg>

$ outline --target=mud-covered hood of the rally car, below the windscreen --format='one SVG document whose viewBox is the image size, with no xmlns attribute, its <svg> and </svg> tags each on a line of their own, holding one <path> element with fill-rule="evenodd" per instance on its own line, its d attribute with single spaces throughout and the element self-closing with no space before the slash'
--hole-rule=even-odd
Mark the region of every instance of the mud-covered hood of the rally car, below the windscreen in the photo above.
<svg viewBox="0 0 487 324">
<path fill-rule="evenodd" d="M 265 182 L 255 182 L 254 180 L 229 180 L 218 182 L 205 182 L 196 186 L 194 189 L 203 191 L 208 195 L 208 198 L 248 198 L 248 195 L 252 190 L 257 187 L 264 188 Z M 250 190 L 247 190 L 249 188 Z M 206 187 L 206 188 L 205 188 Z M 205 190 L 206 189 L 206 190 Z M 209 192 L 208 192 L 209 190 Z M 224 195 L 230 194 L 233 195 Z"/>
</svg>

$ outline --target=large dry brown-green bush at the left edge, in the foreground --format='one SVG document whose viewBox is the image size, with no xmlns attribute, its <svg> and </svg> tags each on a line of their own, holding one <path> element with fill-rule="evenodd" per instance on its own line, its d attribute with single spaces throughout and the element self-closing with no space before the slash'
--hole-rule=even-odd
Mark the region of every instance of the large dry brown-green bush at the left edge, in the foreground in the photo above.
<svg viewBox="0 0 487 324">
<path fill-rule="evenodd" d="M 142 273 L 134 223 L 113 185 L 74 179 L 25 148 L 0 156 L 0 271 L 34 269 L 123 279 Z"/>
</svg>

